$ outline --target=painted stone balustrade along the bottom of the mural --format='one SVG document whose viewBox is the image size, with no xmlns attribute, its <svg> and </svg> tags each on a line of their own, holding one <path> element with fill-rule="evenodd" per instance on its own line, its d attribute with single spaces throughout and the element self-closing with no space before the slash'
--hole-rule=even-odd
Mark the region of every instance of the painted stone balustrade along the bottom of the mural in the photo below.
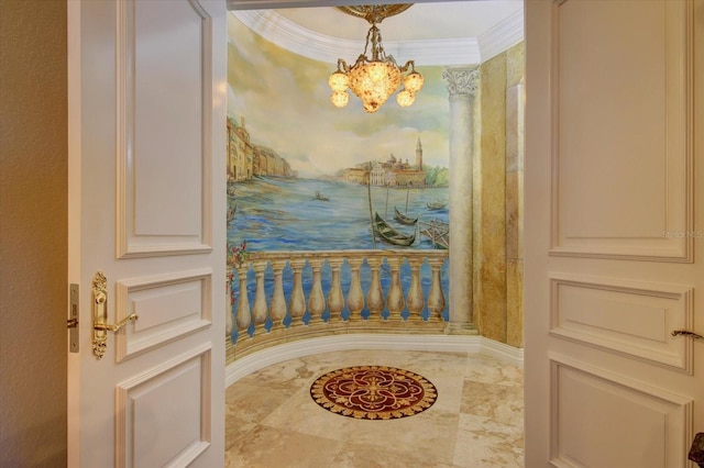
<svg viewBox="0 0 704 468">
<path fill-rule="evenodd" d="M 229 348 L 239 352 L 250 341 L 265 347 L 266 335 L 273 345 L 336 333 L 441 333 L 447 260 L 448 250 L 250 253 L 230 271 L 239 290 L 228 283 L 234 294 L 228 303 L 237 305 L 234 320 L 226 321 L 228 338 L 237 337 Z"/>
</svg>

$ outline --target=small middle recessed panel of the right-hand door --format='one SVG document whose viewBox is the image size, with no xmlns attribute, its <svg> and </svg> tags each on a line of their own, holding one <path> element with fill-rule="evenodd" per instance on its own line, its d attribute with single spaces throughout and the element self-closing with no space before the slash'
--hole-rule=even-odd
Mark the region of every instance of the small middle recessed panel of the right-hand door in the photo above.
<svg viewBox="0 0 704 468">
<path fill-rule="evenodd" d="M 692 288 L 550 274 L 550 333 L 692 374 Z"/>
</svg>

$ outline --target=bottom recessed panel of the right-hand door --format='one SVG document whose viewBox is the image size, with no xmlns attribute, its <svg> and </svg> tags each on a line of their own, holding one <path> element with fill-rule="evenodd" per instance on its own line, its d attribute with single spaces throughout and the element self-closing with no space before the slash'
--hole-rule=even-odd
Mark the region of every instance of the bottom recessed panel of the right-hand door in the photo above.
<svg viewBox="0 0 704 468">
<path fill-rule="evenodd" d="M 550 361 L 554 465 L 685 465 L 682 441 L 691 425 L 692 400 L 563 356 L 550 355 Z"/>
</svg>

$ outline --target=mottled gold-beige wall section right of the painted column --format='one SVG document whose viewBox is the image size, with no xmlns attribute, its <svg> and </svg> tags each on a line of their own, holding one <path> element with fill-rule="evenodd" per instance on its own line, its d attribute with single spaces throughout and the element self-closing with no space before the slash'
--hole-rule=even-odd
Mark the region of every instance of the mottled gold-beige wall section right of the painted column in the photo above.
<svg viewBox="0 0 704 468">
<path fill-rule="evenodd" d="M 516 102 L 522 43 L 482 64 L 475 100 L 474 322 L 480 334 L 522 347 L 522 163 Z M 522 151 L 521 151 L 522 154 Z M 519 258 L 520 257 L 520 258 Z"/>
</svg>

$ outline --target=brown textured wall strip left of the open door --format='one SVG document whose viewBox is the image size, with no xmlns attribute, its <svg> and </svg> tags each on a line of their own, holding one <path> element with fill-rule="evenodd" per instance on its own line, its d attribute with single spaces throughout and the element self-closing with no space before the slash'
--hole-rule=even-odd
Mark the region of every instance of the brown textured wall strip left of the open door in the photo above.
<svg viewBox="0 0 704 468">
<path fill-rule="evenodd" d="M 66 466 L 66 2 L 0 0 L 0 466 Z"/>
</svg>

